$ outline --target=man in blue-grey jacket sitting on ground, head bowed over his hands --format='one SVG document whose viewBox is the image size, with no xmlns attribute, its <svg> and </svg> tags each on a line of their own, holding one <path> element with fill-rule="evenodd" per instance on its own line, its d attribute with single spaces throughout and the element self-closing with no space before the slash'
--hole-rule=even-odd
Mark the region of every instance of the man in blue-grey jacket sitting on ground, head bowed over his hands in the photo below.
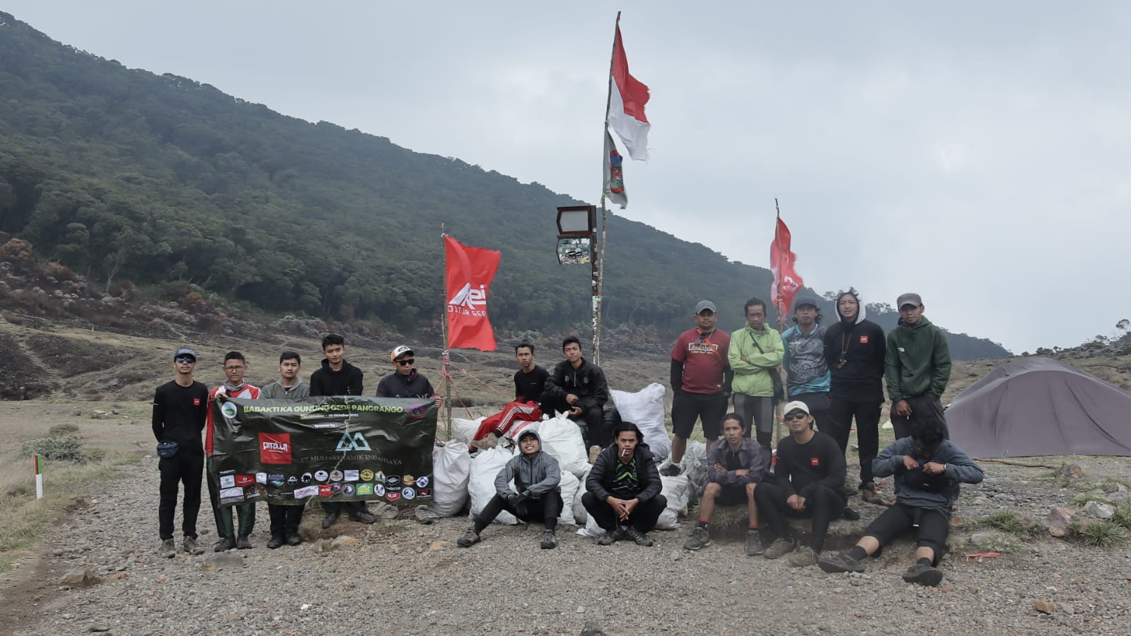
<svg viewBox="0 0 1131 636">
<path fill-rule="evenodd" d="M 896 440 L 873 462 L 878 476 L 896 475 L 896 504 L 875 518 L 852 550 L 821 559 L 827 573 L 864 571 L 864 557 L 878 556 L 886 545 L 910 531 L 916 533 L 915 564 L 904 581 L 920 585 L 942 582 L 939 559 L 950 531 L 955 483 L 978 483 L 982 469 L 946 439 L 941 420 L 920 416 L 910 436 Z"/>
</svg>

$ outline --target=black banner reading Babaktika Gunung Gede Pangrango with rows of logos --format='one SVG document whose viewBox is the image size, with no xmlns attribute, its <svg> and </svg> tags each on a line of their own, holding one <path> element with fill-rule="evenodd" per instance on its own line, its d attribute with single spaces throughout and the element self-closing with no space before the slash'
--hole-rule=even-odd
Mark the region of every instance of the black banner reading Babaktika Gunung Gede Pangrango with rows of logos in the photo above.
<svg viewBox="0 0 1131 636">
<path fill-rule="evenodd" d="M 219 505 L 432 500 L 433 398 L 213 403 Z"/>
</svg>

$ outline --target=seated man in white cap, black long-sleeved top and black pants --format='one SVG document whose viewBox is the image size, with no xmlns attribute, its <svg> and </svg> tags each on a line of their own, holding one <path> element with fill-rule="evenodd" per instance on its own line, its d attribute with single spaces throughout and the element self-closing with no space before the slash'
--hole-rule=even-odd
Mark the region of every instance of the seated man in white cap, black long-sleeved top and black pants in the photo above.
<svg viewBox="0 0 1131 636">
<path fill-rule="evenodd" d="M 777 559 L 793 552 L 789 565 L 811 566 L 824 545 L 829 523 L 845 512 L 845 456 L 831 437 L 813 430 L 804 402 L 785 405 L 785 424 L 789 437 L 778 442 L 775 483 L 763 482 L 754 490 L 758 514 L 777 538 L 762 555 Z M 797 548 L 783 515 L 812 517 L 809 545 Z"/>
</svg>

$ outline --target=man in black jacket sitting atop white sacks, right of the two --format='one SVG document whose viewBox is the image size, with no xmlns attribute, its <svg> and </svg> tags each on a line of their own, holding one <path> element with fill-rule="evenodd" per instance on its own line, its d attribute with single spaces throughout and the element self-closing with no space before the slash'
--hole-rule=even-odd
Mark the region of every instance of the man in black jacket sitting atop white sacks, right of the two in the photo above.
<svg viewBox="0 0 1131 636">
<path fill-rule="evenodd" d="M 562 341 L 562 354 L 566 360 L 555 364 L 546 378 L 544 399 L 547 406 L 577 422 L 593 459 L 601 446 L 608 444 L 604 411 L 608 383 L 599 367 L 581 358 L 581 341 L 577 337 Z"/>
</svg>

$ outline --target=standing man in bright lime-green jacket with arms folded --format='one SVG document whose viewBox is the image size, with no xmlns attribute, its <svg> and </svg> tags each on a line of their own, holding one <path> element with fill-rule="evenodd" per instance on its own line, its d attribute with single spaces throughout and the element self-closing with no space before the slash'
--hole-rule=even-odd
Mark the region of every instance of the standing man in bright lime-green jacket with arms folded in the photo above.
<svg viewBox="0 0 1131 636">
<path fill-rule="evenodd" d="M 742 416 L 745 436 L 756 439 L 767 461 L 774 440 L 774 379 L 785 355 L 782 334 L 766 327 L 766 301 L 752 298 L 745 306 L 746 326 L 731 334 L 727 358 L 734 371 L 734 411 Z M 780 380 L 780 376 L 778 376 Z"/>
</svg>

